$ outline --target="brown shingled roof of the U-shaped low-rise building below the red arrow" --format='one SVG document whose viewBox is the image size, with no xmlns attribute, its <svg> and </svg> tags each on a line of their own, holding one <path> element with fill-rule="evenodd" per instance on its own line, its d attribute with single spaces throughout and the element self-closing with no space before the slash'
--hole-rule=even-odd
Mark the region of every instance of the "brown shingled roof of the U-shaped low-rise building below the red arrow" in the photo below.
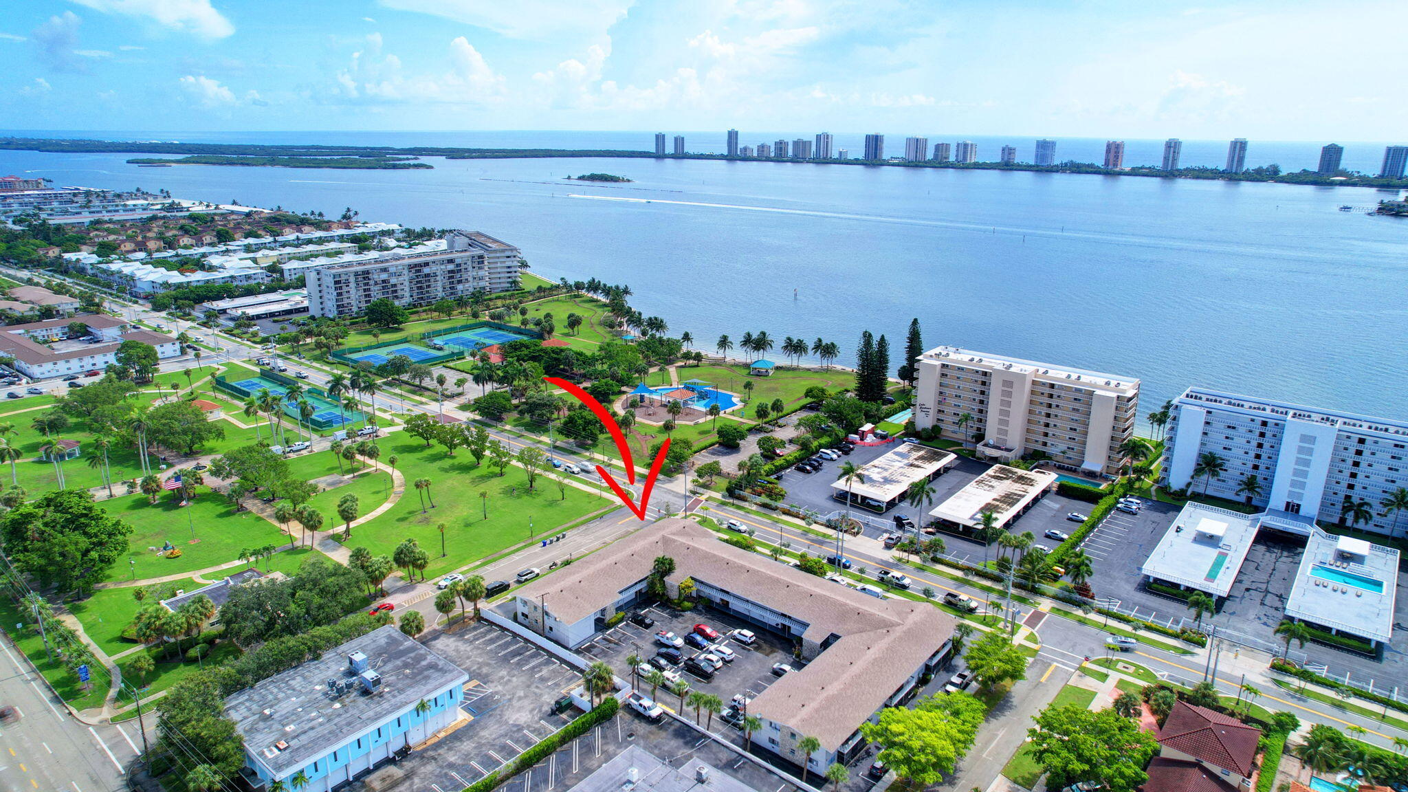
<svg viewBox="0 0 1408 792">
<path fill-rule="evenodd" d="M 694 578 L 807 624 L 804 638 L 836 640 L 803 669 L 779 679 L 749 710 L 821 740 L 835 751 L 953 633 L 953 617 L 929 603 L 876 599 L 719 540 L 687 520 L 662 520 L 517 592 L 566 623 L 596 614 L 650 572 L 676 561 L 672 582 Z"/>
</svg>

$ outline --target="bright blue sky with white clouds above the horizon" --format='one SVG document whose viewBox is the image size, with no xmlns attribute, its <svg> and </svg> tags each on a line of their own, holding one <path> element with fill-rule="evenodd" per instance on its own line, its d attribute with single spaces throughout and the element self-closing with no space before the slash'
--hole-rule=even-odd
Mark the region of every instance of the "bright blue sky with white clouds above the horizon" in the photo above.
<svg viewBox="0 0 1408 792">
<path fill-rule="evenodd" d="M 7 0 L 52 130 L 1398 140 L 1408 3 Z M 1377 42 L 1377 44 L 1374 44 Z"/>
</svg>

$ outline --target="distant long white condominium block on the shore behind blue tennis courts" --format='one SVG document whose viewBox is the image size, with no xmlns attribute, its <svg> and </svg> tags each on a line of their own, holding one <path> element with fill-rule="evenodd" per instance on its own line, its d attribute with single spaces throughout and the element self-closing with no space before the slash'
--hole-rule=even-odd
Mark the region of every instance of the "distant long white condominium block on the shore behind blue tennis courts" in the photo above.
<svg viewBox="0 0 1408 792">
<path fill-rule="evenodd" d="M 358 314 L 383 297 L 400 306 L 425 306 L 474 292 L 507 292 L 518 287 L 521 262 L 514 245 L 479 231 L 452 231 L 441 251 L 307 271 L 308 313 Z"/>
</svg>

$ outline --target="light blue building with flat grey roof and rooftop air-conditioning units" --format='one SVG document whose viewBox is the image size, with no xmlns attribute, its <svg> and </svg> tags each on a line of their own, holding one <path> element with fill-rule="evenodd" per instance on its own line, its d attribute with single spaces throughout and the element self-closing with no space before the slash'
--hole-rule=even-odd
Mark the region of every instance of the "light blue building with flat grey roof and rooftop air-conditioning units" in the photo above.
<svg viewBox="0 0 1408 792">
<path fill-rule="evenodd" d="M 469 676 L 387 624 L 225 699 L 251 786 L 328 792 L 462 717 Z"/>
</svg>

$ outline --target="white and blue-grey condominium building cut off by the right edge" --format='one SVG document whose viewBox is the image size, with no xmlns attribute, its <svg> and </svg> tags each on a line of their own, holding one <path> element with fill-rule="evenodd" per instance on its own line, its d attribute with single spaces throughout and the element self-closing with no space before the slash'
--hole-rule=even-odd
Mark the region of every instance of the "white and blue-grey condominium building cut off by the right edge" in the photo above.
<svg viewBox="0 0 1408 792">
<path fill-rule="evenodd" d="M 1347 524 L 1343 503 L 1367 500 L 1373 516 L 1357 527 L 1393 536 L 1408 514 L 1384 516 L 1383 500 L 1408 486 L 1408 423 L 1371 419 L 1190 388 L 1173 402 L 1164 447 L 1164 482 L 1173 489 L 1246 502 Z M 1225 469 L 1194 475 L 1202 454 Z M 1256 486 L 1249 488 L 1249 478 Z"/>
</svg>

